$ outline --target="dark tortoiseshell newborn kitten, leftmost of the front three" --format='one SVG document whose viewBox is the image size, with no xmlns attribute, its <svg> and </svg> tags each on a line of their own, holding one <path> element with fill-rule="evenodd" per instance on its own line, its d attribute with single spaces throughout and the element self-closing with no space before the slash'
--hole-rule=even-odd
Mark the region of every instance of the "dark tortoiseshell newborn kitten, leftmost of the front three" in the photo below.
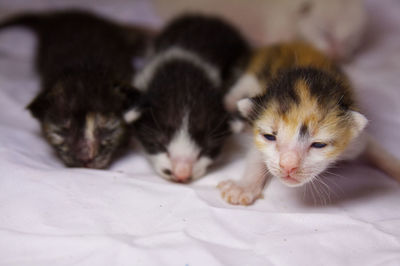
<svg viewBox="0 0 400 266">
<path fill-rule="evenodd" d="M 0 29 L 9 26 L 37 34 L 42 89 L 27 108 L 46 139 L 67 166 L 108 166 L 125 136 L 122 114 L 139 97 L 131 61 L 145 33 L 74 10 L 23 14 Z"/>
</svg>

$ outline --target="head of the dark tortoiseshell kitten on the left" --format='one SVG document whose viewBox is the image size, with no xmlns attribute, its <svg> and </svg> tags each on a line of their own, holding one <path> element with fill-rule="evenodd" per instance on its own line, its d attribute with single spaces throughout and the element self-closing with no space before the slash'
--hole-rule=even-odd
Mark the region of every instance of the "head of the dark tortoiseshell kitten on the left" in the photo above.
<svg viewBox="0 0 400 266">
<path fill-rule="evenodd" d="M 105 168 L 124 140 L 127 101 L 137 97 L 121 86 L 67 80 L 40 93 L 28 109 L 67 166 Z"/>
</svg>

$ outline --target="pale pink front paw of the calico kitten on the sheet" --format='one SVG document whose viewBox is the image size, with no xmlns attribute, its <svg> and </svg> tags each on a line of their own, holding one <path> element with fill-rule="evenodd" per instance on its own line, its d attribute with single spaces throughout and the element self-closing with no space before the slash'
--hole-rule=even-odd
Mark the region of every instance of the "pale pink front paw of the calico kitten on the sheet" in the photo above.
<svg viewBox="0 0 400 266">
<path fill-rule="evenodd" d="M 261 198 L 261 190 L 251 185 L 239 185 L 235 181 L 222 181 L 217 186 L 221 190 L 222 198 L 235 205 L 250 205 Z"/>
</svg>

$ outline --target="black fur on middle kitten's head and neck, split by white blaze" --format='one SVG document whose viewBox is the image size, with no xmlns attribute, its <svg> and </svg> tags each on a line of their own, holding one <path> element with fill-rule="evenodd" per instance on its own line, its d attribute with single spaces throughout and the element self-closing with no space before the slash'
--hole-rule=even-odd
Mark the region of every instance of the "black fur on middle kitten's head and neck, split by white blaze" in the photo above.
<svg viewBox="0 0 400 266">
<path fill-rule="evenodd" d="M 162 66 L 149 84 L 147 98 L 149 108 L 135 125 L 150 154 L 166 151 L 185 114 L 189 115 L 189 133 L 203 149 L 202 155 L 215 157 L 230 134 L 222 93 L 202 70 L 188 62 L 176 60 Z"/>
</svg>

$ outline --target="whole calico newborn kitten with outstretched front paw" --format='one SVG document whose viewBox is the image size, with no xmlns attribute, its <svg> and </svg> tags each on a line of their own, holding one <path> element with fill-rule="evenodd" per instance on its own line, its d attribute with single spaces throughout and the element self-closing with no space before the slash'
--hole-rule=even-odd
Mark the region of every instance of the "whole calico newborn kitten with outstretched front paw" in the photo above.
<svg viewBox="0 0 400 266">
<path fill-rule="evenodd" d="M 248 205 L 260 197 L 268 176 L 297 187 L 337 160 L 364 152 L 400 181 L 400 162 L 362 133 L 367 119 L 357 111 L 347 77 L 304 43 L 256 51 L 247 73 L 226 97 L 251 123 L 253 144 L 239 182 L 219 184 L 223 198 Z"/>
</svg>

